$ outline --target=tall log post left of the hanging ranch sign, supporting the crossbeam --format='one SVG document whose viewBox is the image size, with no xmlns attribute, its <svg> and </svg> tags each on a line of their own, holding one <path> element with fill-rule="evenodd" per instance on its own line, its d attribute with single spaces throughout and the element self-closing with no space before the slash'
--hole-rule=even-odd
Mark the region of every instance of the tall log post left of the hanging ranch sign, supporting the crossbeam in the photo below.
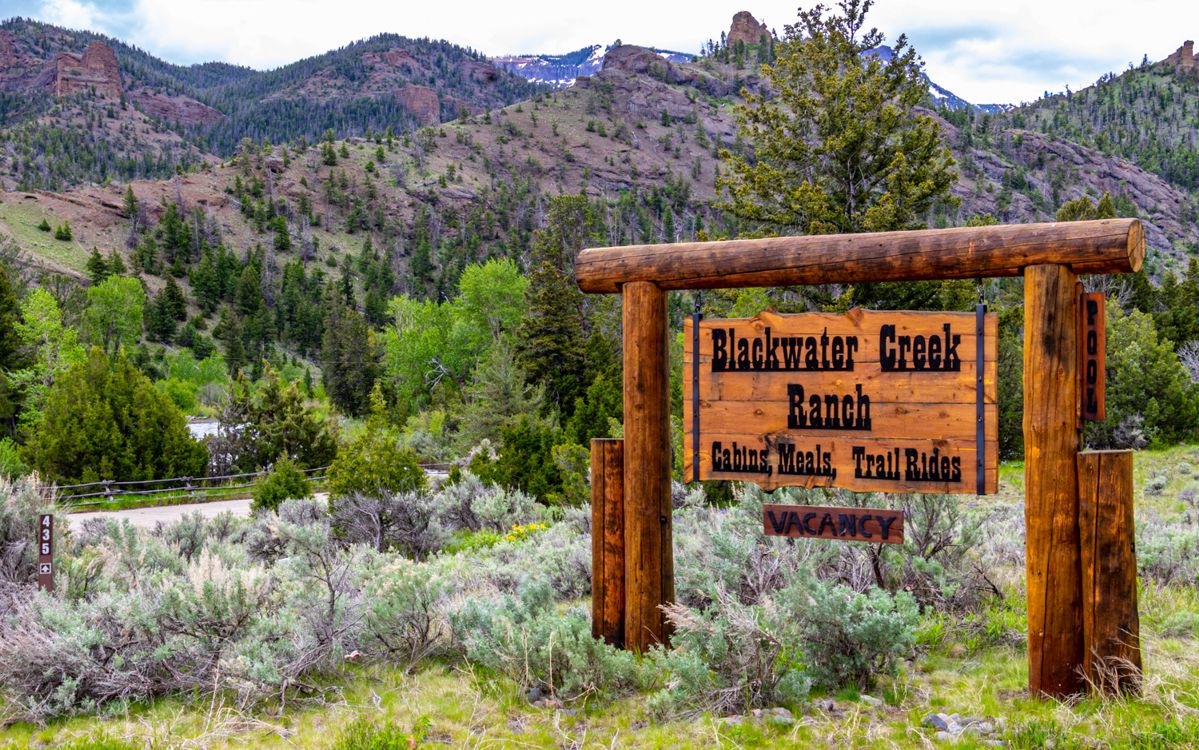
<svg viewBox="0 0 1199 750">
<path fill-rule="evenodd" d="M 621 288 L 625 361 L 625 647 L 665 642 L 661 606 L 674 600 L 670 538 L 670 400 L 667 294 Z"/>
</svg>

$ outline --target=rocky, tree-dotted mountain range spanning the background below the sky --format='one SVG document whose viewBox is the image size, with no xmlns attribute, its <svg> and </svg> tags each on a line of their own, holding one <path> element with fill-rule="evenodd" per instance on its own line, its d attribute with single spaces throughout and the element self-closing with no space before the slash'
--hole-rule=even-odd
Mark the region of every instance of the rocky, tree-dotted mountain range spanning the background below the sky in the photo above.
<svg viewBox="0 0 1199 750">
<path fill-rule="evenodd" d="M 1145 220 L 1155 273 L 1185 262 L 1199 252 L 1188 49 L 1016 108 L 966 105 L 930 81 L 927 113 L 960 179 L 929 225 L 1050 220 L 1067 200 L 1109 192 Z M 386 248 L 387 291 L 430 295 L 466 262 L 522 259 L 550 194 L 603 201 L 613 244 L 719 234 L 718 152 L 743 147 L 733 107 L 761 90 L 752 60 L 627 44 L 487 59 L 380 35 L 258 72 L 175 66 L 12 19 L 0 24 L 0 234 L 31 265 L 70 276 L 86 272 L 92 248 L 137 267 L 128 187 L 138 220 L 153 225 L 174 204 L 193 237 L 285 248 L 279 265 L 299 253 L 356 274 L 347 264 L 363 242 Z M 68 222 L 73 238 L 37 231 L 43 219 Z"/>
</svg>

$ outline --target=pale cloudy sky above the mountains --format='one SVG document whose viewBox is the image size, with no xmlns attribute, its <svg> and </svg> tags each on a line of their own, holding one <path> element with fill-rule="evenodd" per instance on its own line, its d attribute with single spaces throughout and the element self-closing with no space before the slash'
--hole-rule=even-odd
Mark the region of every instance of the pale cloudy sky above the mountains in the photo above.
<svg viewBox="0 0 1199 750">
<path fill-rule="evenodd" d="M 779 34 L 794 0 L 0 0 L 0 17 L 85 28 L 179 63 L 270 68 L 382 31 L 489 55 L 627 43 L 695 52 L 748 10 Z M 805 4 L 811 5 L 811 2 Z M 977 103 L 1079 89 L 1199 36 L 1194 0 L 878 0 L 869 22 L 906 34 L 929 77 Z"/>
</svg>

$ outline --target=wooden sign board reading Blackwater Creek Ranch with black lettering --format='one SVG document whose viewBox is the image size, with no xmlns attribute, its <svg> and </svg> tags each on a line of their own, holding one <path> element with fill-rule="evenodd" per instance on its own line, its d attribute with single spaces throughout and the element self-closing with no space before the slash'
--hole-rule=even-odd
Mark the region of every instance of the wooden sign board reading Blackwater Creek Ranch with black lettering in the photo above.
<svg viewBox="0 0 1199 750">
<path fill-rule="evenodd" d="M 999 322 L 983 316 L 981 337 L 977 322 L 974 313 L 765 312 L 700 321 L 697 356 L 688 320 L 685 476 L 765 490 L 994 492 Z"/>
</svg>

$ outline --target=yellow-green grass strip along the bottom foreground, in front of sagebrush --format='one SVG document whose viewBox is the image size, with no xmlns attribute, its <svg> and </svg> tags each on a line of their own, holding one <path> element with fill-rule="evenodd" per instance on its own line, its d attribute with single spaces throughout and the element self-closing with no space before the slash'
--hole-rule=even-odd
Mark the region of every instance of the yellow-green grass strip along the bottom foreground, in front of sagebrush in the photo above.
<svg viewBox="0 0 1199 750">
<path fill-rule="evenodd" d="M 106 737 L 144 748 L 327 748 L 338 738 L 415 734 L 448 746 L 622 748 L 981 748 L 963 737 L 939 743 L 923 726 L 929 713 L 1002 719 L 1013 748 L 1187 748 L 1199 745 L 1199 655 L 1192 640 L 1145 640 L 1146 683 L 1141 698 L 1084 698 L 1074 703 L 1028 697 L 1020 648 L 993 647 L 969 657 L 929 653 L 869 695 L 833 697 L 832 710 L 791 707 L 795 722 L 773 726 L 721 716 L 663 720 L 645 696 L 615 702 L 595 697 L 567 710 L 538 709 L 512 683 L 469 667 L 438 665 L 415 675 L 350 667 L 332 676 L 323 692 L 293 698 L 281 710 L 248 715 L 219 697 L 162 700 L 129 706 L 107 718 L 76 718 L 47 727 L 17 725 L 0 732 L 0 748 L 49 748 Z M 354 722 L 356 730 L 347 731 Z M 90 746 L 90 745 L 78 745 Z M 95 745 L 113 746 L 121 745 Z M 350 744 L 337 746 L 392 746 Z"/>
</svg>

